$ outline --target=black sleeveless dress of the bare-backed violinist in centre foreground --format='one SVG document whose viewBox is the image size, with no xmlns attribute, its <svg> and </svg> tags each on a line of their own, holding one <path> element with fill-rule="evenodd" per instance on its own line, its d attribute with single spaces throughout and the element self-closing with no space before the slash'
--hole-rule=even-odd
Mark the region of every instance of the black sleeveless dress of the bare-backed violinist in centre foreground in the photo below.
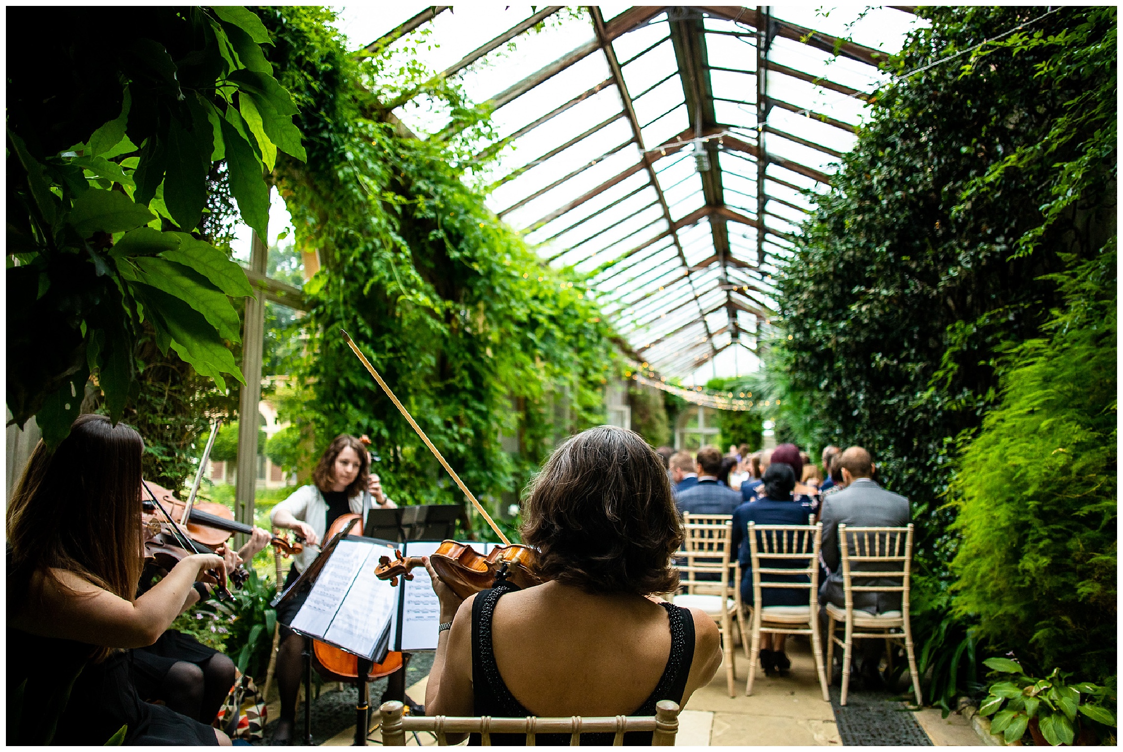
<svg viewBox="0 0 1123 752">
<path fill-rule="evenodd" d="M 506 688 L 492 650 L 492 616 L 495 614 L 495 604 L 504 593 L 513 589 L 518 588 L 508 586 L 483 590 L 472 604 L 472 684 L 475 694 L 474 710 L 477 716 L 521 718 L 533 715 Z M 686 690 L 686 679 L 694 660 L 694 620 L 686 608 L 669 603 L 659 605 L 667 609 L 667 620 L 670 623 L 670 654 L 667 657 L 667 666 L 655 691 L 629 715 L 655 715 L 655 704 L 664 699 L 681 705 L 683 693 Z M 614 734 L 611 733 L 582 734 L 581 743 L 583 746 L 608 746 L 612 744 L 613 737 Z M 480 734 L 472 734 L 468 745 L 478 746 L 480 741 Z M 491 742 L 494 745 L 523 746 L 526 736 L 492 734 Z M 538 746 L 568 746 L 569 734 L 536 734 L 535 743 Z M 628 732 L 624 734 L 623 743 L 632 746 L 650 746 L 651 732 Z"/>
</svg>

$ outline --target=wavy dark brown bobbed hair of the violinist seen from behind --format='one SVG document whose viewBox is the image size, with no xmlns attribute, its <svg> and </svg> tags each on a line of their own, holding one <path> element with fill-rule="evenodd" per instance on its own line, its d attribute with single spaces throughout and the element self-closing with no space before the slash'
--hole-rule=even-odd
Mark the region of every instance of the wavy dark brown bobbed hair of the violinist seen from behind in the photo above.
<svg viewBox="0 0 1123 752">
<path fill-rule="evenodd" d="M 663 459 L 638 433 L 600 425 L 555 450 L 529 487 L 522 540 L 538 575 L 590 593 L 670 593 L 683 530 Z"/>
</svg>

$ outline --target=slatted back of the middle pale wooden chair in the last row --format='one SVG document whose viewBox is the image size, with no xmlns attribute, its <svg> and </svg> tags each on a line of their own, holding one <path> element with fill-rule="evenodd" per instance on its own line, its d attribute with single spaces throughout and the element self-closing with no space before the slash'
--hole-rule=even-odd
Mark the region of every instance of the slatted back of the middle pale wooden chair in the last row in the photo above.
<svg viewBox="0 0 1123 752">
<path fill-rule="evenodd" d="M 811 590 L 811 613 L 819 604 L 819 548 L 823 540 L 823 523 L 814 525 L 758 525 L 749 523 L 749 554 L 752 561 L 752 602 L 761 604 L 760 590 L 765 587 Z M 805 567 L 765 567 L 780 561 L 806 562 Z M 778 583 L 775 576 L 806 575 L 806 583 Z M 769 576 L 773 576 L 769 578 Z M 772 581 L 770 581 L 772 579 Z"/>
</svg>

